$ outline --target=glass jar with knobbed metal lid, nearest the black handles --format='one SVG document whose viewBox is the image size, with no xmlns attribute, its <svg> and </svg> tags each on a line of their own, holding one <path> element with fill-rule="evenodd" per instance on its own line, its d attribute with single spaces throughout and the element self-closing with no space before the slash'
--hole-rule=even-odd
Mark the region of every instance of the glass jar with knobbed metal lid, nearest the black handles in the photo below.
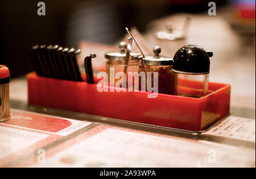
<svg viewBox="0 0 256 179">
<path fill-rule="evenodd" d="M 127 53 L 129 50 L 129 53 Z M 106 62 L 106 73 L 108 74 L 109 82 L 115 79 L 115 74 L 118 72 L 123 72 L 126 74 L 128 72 L 138 72 L 139 71 L 139 56 L 140 53 L 130 52 L 131 44 L 129 49 L 127 49 L 126 42 L 119 43 L 119 51 L 107 52 L 105 53 L 105 58 L 108 59 Z M 128 55 L 127 55 L 128 54 Z M 114 75 L 110 75 L 110 68 L 114 68 Z M 114 82 L 117 82 L 119 79 L 115 79 Z M 126 80 L 127 82 L 127 80 Z"/>
</svg>

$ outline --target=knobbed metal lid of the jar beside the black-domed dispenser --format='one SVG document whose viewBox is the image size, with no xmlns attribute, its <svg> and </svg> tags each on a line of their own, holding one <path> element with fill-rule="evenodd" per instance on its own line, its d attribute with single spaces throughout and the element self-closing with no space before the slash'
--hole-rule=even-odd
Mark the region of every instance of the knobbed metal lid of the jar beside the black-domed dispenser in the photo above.
<svg viewBox="0 0 256 179">
<path fill-rule="evenodd" d="M 153 49 L 154 55 L 147 55 L 143 58 L 140 56 L 139 59 L 142 60 L 142 64 L 145 65 L 172 65 L 172 58 L 166 56 L 160 56 L 161 48 L 160 46 L 155 46 Z"/>
</svg>

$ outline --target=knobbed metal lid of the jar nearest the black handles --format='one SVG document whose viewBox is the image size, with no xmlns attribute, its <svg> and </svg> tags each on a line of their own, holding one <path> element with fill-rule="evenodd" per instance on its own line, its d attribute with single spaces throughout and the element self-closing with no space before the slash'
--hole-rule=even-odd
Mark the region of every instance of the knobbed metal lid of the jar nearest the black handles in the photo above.
<svg viewBox="0 0 256 179">
<path fill-rule="evenodd" d="M 127 59 L 126 48 L 127 48 L 126 42 L 120 42 L 119 51 L 106 52 L 105 58 L 112 59 L 112 60 L 126 60 Z M 130 52 L 129 60 L 138 60 L 139 56 L 141 56 L 140 53 Z"/>
</svg>

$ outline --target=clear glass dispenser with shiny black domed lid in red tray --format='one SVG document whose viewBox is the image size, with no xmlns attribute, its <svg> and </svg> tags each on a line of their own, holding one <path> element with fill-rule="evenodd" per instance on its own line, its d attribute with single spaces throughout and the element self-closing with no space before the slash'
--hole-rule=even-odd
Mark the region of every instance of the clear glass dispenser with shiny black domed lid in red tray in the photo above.
<svg viewBox="0 0 256 179">
<path fill-rule="evenodd" d="M 209 57 L 212 56 L 212 52 L 205 52 L 197 45 L 186 45 L 177 50 L 172 67 L 172 93 L 196 98 L 207 95 Z"/>
</svg>

